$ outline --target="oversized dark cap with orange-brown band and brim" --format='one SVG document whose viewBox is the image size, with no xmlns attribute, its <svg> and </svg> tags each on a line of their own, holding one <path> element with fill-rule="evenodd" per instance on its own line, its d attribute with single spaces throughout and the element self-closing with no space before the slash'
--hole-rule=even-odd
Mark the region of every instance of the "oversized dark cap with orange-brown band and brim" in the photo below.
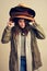
<svg viewBox="0 0 47 71">
<path fill-rule="evenodd" d="M 21 5 L 21 4 L 14 8 L 11 8 L 9 14 L 12 19 L 22 17 L 30 21 L 32 21 L 35 17 L 35 11 L 33 9 Z"/>
</svg>

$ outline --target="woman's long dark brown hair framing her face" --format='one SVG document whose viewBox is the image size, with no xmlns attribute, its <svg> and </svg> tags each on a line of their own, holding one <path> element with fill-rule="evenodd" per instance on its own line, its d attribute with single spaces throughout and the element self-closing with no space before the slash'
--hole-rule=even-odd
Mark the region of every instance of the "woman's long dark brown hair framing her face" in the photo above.
<svg viewBox="0 0 47 71">
<path fill-rule="evenodd" d="M 24 19 L 25 20 L 25 27 L 24 28 L 21 28 L 20 25 L 19 25 L 19 17 L 14 17 L 13 19 L 13 22 L 14 22 L 14 27 L 12 28 L 13 33 L 15 34 L 19 34 L 20 32 L 24 31 L 24 34 L 27 35 L 28 31 L 30 31 L 30 21 Z"/>
</svg>

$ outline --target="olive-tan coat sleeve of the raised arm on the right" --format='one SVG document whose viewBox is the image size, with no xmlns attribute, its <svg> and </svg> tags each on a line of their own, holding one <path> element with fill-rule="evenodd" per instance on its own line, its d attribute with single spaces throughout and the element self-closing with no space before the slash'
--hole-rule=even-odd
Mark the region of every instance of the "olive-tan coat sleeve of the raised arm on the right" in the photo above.
<svg viewBox="0 0 47 71">
<path fill-rule="evenodd" d="M 37 24 L 36 22 L 33 23 L 33 29 L 37 38 L 45 39 L 45 33 L 39 24 Z"/>
</svg>

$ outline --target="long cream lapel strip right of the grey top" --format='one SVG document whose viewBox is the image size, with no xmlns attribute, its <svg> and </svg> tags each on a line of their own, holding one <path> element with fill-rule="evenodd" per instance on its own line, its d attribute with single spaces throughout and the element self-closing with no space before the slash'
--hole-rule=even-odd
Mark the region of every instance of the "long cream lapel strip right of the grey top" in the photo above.
<svg viewBox="0 0 47 71">
<path fill-rule="evenodd" d="M 27 71 L 33 71 L 33 69 L 32 69 L 32 50 L 31 50 L 31 32 L 28 32 L 25 43 L 26 43 L 25 44 L 26 68 L 27 68 Z"/>
</svg>

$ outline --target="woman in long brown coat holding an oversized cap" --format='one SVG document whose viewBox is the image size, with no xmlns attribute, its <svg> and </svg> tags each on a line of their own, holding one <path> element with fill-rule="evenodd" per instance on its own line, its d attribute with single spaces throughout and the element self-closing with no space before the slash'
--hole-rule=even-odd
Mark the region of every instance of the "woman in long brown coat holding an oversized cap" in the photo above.
<svg viewBox="0 0 47 71">
<path fill-rule="evenodd" d="M 42 67 L 36 37 L 45 38 L 43 28 L 34 20 L 35 11 L 17 5 L 10 10 L 10 16 L 1 39 L 3 44 L 11 42 L 10 71 L 34 71 Z"/>
</svg>

